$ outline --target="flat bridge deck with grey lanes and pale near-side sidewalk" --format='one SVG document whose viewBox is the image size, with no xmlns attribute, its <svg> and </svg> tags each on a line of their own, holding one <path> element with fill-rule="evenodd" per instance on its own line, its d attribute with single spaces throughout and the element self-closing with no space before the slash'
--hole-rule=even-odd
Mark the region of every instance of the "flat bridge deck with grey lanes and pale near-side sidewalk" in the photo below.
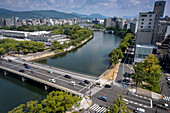
<svg viewBox="0 0 170 113">
<path fill-rule="evenodd" d="M 80 81 L 83 81 L 86 79 L 84 77 L 74 77 L 71 75 L 72 78 L 68 79 L 64 77 L 64 74 L 66 72 L 58 73 L 59 71 L 53 71 L 53 73 L 48 73 L 47 68 L 44 69 L 44 68 L 40 68 L 39 66 L 35 68 L 34 66 L 28 64 L 30 66 L 30 69 L 26 69 L 23 66 L 23 63 L 21 62 L 15 62 L 15 61 L 8 62 L 7 60 L 4 60 L 4 59 L 0 59 L 0 62 L 1 62 L 0 69 L 2 70 L 15 73 L 22 77 L 29 78 L 34 81 L 43 83 L 45 85 L 52 86 L 54 88 L 64 90 L 64 91 L 67 91 L 67 92 L 70 92 L 70 93 L 73 93 L 79 96 L 82 96 L 85 92 L 89 90 L 88 88 L 89 85 L 87 86 L 79 85 Z M 25 72 L 24 73 L 19 72 L 20 69 L 24 69 Z M 34 70 L 34 72 L 32 73 L 31 70 Z M 56 82 L 51 83 L 49 82 L 49 79 L 55 79 Z M 90 79 L 90 80 L 93 80 L 93 79 Z M 69 85 L 71 81 L 74 81 L 76 85 L 75 86 Z"/>
</svg>

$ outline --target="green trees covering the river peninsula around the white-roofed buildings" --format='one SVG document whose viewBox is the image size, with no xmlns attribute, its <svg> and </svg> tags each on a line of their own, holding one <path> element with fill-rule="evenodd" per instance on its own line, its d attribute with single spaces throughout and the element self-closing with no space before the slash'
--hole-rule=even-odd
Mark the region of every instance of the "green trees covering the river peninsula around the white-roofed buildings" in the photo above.
<svg viewBox="0 0 170 113">
<path fill-rule="evenodd" d="M 17 30 L 17 31 L 29 31 L 29 32 L 46 30 L 46 31 L 51 31 L 51 34 L 65 34 L 67 35 L 67 38 L 70 39 L 70 42 L 68 43 L 64 42 L 63 44 L 60 44 L 58 41 L 54 41 L 50 48 L 45 48 L 44 43 L 34 42 L 34 41 L 15 41 L 13 39 L 3 39 L 0 41 L 0 47 L 2 47 L 0 49 L 0 55 L 10 53 L 10 54 L 22 55 L 24 58 L 26 57 L 30 58 L 25 60 L 37 60 L 40 58 L 49 57 L 67 51 L 71 51 L 83 45 L 87 41 L 89 41 L 91 38 L 93 38 L 94 35 L 94 32 L 92 30 L 89 30 L 87 28 L 81 28 L 78 25 L 55 25 L 55 26 L 47 26 L 47 25 L 25 26 L 24 25 L 20 27 L 4 26 L 2 28 L 5 30 Z M 15 43 L 13 44 L 13 42 Z M 32 44 L 32 43 L 36 43 L 36 44 Z M 10 47 L 8 45 L 12 45 L 12 46 Z M 40 50 L 39 50 L 39 45 L 41 45 Z M 38 48 L 34 48 L 35 46 L 38 46 Z M 48 52 L 47 51 L 44 52 L 44 50 L 48 50 Z M 38 55 L 38 57 L 33 55 L 32 56 L 33 58 L 31 58 L 31 55 L 28 54 L 28 53 L 37 53 L 37 52 L 41 52 L 40 53 L 41 55 Z"/>
</svg>

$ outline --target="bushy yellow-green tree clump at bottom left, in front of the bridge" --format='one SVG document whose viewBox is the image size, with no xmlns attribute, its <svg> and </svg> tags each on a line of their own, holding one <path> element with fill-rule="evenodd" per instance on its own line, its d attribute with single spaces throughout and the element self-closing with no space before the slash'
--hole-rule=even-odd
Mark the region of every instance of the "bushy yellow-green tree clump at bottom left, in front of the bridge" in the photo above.
<svg viewBox="0 0 170 113">
<path fill-rule="evenodd" d="M 64 113 L 71 110 L 73 105 L 78 107 L 80 100 L 81 98 L 67 92 L 52 91 L 41 102 L 31 100 L 8 113 Z"/>
</svg>

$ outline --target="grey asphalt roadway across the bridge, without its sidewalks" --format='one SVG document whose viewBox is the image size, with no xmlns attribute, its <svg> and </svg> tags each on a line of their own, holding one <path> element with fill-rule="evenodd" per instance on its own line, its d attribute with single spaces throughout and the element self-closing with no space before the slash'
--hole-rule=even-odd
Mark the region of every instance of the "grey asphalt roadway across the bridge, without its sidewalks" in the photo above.
<svg viewBox="0 0 170 113">
<path fill-rule="evenodd" d="M 72 77 L 71 79 L 68 79 L 68 78 L 65 78 L 64 75 L 62 75 L 62 74 L 55 73 L 55 72 L 48 73 L 46 70 L 43 70 L 43 69 L 40 69 L 40 68 L 35 69 L 34 67 L 30 66 L 31 69 L 26 69 L 23 66 L 23 64 L 17 63 L 17 62 L 14 62 L 14 61 L 8 62 L 4 59 L 0 59 L 0 61 L 1 61 L 0 66 L 10 68 L 10 69 L 13 69 L 15 71 L 18 71 L 19 69 L 24 69 L 25 74 L 28 74 L 28 75 L 33 76 L 33 77 L 37 77 L 37 78 L 45 80 L 45 81 L 49 81 L 49 79 L 55 79 L 56 83 L 53 83 L 53 84 L 63 86 L 65 88 L 71 89 L 73 91 L 76 91 L 76 92 L 79 92 L 79 93 L 82 93 L 82 94 L 84 94 L 85 92 L 87 92 L 89 90 L 88 85 L 87 86 L 79 85 L 79 82 L 83 81 L 83 79 L 80 80 L 80 79 L 76 79 L 74 77 Z M 34 70 L 34 73 L 31 72 L 32 69 Z M 69 83 L 71 81 L 75 81 L 76 85 L 75 86 L 69 85 Z"/>
</svg>

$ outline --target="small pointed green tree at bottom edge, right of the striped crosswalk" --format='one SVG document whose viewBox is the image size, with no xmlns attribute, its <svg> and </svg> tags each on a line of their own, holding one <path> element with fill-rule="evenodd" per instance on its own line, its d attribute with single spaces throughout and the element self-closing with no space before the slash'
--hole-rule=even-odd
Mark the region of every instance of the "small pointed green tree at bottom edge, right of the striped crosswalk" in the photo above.
<svg viewBox="0 0 170 113">
<path fill-rule="evenodd" d="M 113 106 L 109 107 L 109 111 L 106 113 L 131 113 L 126 107 L 126 101 L 124 101 L 124 96 L 119 93 L 118 98 L 114 101 Z"/>
</svg>

